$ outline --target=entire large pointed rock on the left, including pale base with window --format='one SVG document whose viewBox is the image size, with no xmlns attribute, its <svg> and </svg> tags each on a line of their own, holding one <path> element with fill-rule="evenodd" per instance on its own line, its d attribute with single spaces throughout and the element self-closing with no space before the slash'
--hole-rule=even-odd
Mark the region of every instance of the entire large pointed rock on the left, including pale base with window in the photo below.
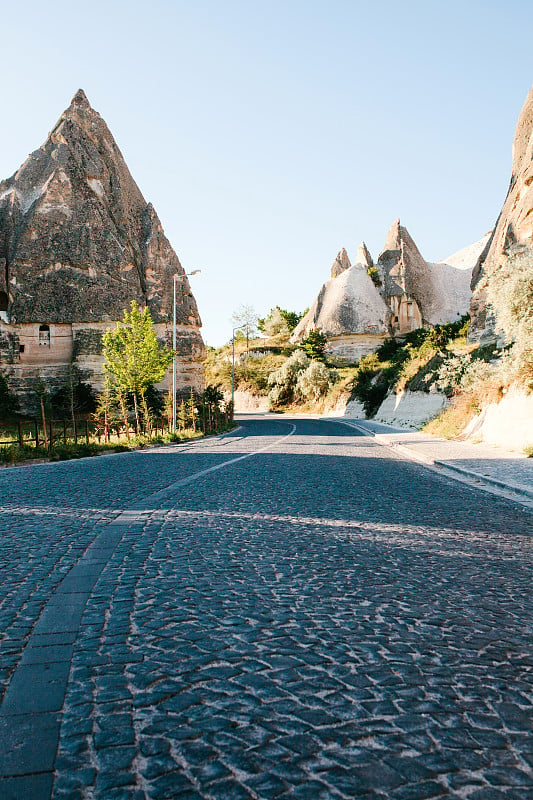
<svg viewBox="0 0 533 800">
<path fill-rule="evenodd" d="M 80 89 L 42 147 L 0 183 L 0 365 L 19 392 L 78 366 L 101 377 L 101 336 L 132 300 L 171 342 L 177 282 L 179 373 L 200 388 L 195 300 L 157 213 Z M 16 340 L 16 341 L 15 341 Z"/>
</svg>

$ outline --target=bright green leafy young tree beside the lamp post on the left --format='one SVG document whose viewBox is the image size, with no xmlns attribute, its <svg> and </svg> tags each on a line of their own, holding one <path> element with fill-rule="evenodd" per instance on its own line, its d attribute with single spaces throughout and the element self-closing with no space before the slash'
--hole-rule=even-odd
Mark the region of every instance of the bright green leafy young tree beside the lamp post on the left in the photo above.
<svg viewBox="0 0 533 800">
<path fill-rule="evenodd" d="M 124 311 L 122 322 L 107 330 L 103 337 L 104 371 L 122 394 L 131 392 L 136 432 L 140 431 L 139 405 L 149 419 L 146 392 L 159 383 L 172 363 L 174 352 L 157 341 L 150 311 L 142 311 L 135 300 Z"/>
</svg>

